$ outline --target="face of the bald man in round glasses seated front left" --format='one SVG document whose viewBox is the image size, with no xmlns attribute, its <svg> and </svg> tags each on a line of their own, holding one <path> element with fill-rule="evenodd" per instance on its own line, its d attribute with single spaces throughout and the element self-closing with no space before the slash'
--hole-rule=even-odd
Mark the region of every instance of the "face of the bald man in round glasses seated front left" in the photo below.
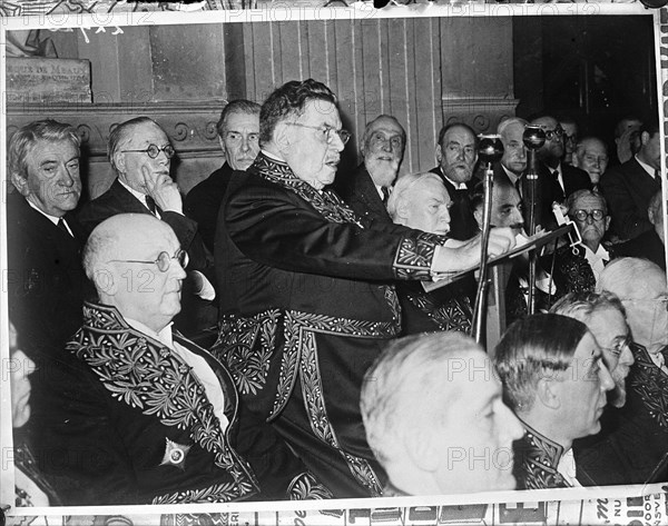
<svg viewBox="0 0 668 526">
<path fill-rule="evenodd" d="M 119 282 L 115 305 L 124 317 L 160 331 L 180 311 L 181 281 L 186 272 L 175 258 L 180 249 L 178 239 L 171 228 L 157 220 L 124 236 L 111 264 Z M 165 271 L 153 262 L 161 252 L 170 258 Z"/>
</svg>

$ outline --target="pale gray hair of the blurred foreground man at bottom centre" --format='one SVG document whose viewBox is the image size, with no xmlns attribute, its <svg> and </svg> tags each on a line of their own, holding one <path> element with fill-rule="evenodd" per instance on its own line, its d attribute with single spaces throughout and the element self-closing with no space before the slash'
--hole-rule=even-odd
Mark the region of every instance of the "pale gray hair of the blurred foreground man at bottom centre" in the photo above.
<svg viewBox="0 0 668 526">
<path fill-rule="evenodd" d="M 366 439 L 381 464 L 402 454 L 399 445 L 404 433 L 429 433 L 429 426 L 423 423 L 438 426 L 445 421 L 443 408 L 439 414 L 425 414 L 415 400 L 446 395 L 449 404 L 456 403 L 460 384 L 444 381 L 444 378 L 450 379 L 454 373 L 465 374 L 461 360 L 473 351 L 482 353 L 482 349 L 461 333 L 413 335 L 394 340 L 369 368 L 362 384 L 360 409 Z"/>
</svg>

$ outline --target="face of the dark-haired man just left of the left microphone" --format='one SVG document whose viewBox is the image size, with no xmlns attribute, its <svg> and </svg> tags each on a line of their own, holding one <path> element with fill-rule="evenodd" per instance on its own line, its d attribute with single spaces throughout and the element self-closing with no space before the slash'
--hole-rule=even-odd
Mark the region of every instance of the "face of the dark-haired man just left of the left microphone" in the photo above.
<svg viewBox="0 0 668 526">
<path fill-rule="evenodd" d="M 475 137 L 466 128 L 454 126 L 436 147 L 436 160 L 445 177 L 454 182 L 468 182 L 478 160 Z"/>
</svg>

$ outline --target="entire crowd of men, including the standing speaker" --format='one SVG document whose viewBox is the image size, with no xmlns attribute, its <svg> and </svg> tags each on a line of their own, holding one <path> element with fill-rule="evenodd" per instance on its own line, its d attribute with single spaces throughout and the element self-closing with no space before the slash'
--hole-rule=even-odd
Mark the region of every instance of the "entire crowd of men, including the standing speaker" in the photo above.
<svg viewBox="0 0 668 526">
<path fill-rule="evenodd" d="M 553 228 L 561 204 L 581 244 L 540 258 L 534 315 L 514 259 L 517 320 L 487 354 L 470 336 L 473 274 L 422 287 L 480 264 L 487 196 L 465 123 L 441 130 L 438 167 L 397 177 L 406 132 L 379 116 L 362 163 L 337 173 L 351 133 L 336 96 L 291 81 L 225 107 L 225 163 L 185 198 L 163 128 L 120 123 L 117 178 L 88 202 L 75 130 L 20 128 L 7 205 L 17 504 L 667 480 L 658 128 L 620 122 L 623 162 L 608 169 L 603 142 L 562 120 L 531 121 L 547 136 L 537 217 Z M 499 125 L 488 256 L 525 242 L 527 123 Z M 217 307 L 215 340 L 187 321 L 203 306 Z"/>
</svg>

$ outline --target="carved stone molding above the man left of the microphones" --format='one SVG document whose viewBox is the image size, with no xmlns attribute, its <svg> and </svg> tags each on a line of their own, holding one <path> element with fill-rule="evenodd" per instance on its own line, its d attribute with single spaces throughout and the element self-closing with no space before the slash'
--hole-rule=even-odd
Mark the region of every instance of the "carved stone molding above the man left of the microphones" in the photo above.
<svg viewBox="0 0 668 526">
<path fill-rule="evenodd" d="M 519 102 L 519 99 L 444 97 L 443 123 L 465 122 L 477 132 L 493 133 L 502 119 L 514 117 Z"/>
</svg>

